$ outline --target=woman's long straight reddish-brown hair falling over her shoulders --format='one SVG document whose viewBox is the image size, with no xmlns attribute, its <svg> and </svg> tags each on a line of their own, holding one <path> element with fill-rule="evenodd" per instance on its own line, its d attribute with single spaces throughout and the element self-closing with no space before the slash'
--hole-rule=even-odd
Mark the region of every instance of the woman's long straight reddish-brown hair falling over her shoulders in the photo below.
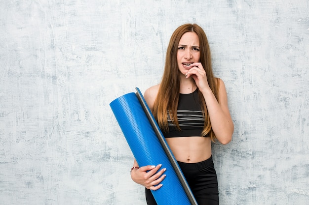
<svg viewBox="0 0 309 205">
<path fill-rule="evenodd" d="M 206 71 L 209 87 L 219 102 L 218 88 L 220 81 L 217 79 L 216 82 L 212 72 L 211 54 L 205 32 L 196 24 L 185 24 L 178 27 L 172 34 L 169 45 L 167 47 L 164 72 L 157 97 L 154 101 L 153 114 L 159 124 L 159 127 L 164 132 L 168 132 L 169 130 L 167 125 L 167 111 L 169 111 L 169 117 L 171 118 L 172 122 L 175 123 L 180 130 L 177 119 L 177 106 L 180 91 L 180 72 L 177 64 L 177 51 L 180 38 L 186 32 L 195 32 L 198 36 L 200 47 L 200 62 Z M 199 90 L 198 94 L 202 105 L 202 110 L 205 111 L 205 123 L 202 136 L 208 135 L 211 140 L 214 141 L 216 136 L 211 128 L 205 99 Z"/>
</svg>

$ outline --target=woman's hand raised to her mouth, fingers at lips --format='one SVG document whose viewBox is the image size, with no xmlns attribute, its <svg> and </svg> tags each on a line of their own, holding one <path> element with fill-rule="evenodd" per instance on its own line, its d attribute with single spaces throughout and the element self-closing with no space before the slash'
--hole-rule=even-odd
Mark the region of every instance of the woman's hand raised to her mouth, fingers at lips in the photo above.
<svg viewBox="0 0 309 205">
<path fill-rule="evenodd" d="M 191 64 L 193 66 L 186 74 L 186 78 L 192 77 L 195 81 L 198 89 L 203 92 L 206 89 L 210 89 L 207 81 L 207 74 L 203 68 L 202 63 L 194 62 Z"/>
</svg>

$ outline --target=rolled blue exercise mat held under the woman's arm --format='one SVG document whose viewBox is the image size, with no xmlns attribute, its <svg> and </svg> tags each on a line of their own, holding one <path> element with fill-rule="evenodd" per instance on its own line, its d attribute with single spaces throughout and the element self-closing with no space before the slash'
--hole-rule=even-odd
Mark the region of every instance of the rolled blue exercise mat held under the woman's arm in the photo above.
<svg viewBox="0 0 309 205">
<path fill-rule="evenodd" d="M 163 186 L 152 190 L 158 205 L 197 205 L 177 161 L 154 120 L 139 88 L 122 95 L 110 106 L 139 166 L 162 164 Z"/>
</svg>

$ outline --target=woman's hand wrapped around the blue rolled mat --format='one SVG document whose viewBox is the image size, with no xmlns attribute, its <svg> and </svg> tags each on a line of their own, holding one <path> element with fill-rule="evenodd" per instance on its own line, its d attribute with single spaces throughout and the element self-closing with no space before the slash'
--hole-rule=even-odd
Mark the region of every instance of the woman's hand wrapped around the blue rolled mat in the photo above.
<svg viewBox="0 0 309 205">
<path fill-rule="evenodd" d="M 147 189 L 157 190 L 162 187 L 163 184 L 160 184 L 161 181 L 165 178 L 163 173 L 165 172 L 165 168 L 161 169 L 161 164 L 157 166 L 144 166 L 139 169 L 133 169 L 131 172 L 131 178 L 138 184 L 145 186 Z"/>
</svg>

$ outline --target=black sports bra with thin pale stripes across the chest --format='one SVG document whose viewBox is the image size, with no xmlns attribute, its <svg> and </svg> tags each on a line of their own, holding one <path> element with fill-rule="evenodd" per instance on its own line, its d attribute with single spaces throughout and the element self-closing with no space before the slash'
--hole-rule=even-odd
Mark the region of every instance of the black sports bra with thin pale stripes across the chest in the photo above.
<svg viewBox="0 0 309 205">
<path fill-rule="evenodd" d="M 170 137 L 190 137 L 202 136 L 205 119 L 204 111 L 201 110 L 201 105 L 198 98 L 198 89 L 190 94 L 179 94 L 179 102 L 177 108 L 177 118 L 180 126 L 180 131 L 176 125 L 172 123 L 169 112 L 167 111 L 167 122 L 169 132 L 164 133 L 165 138 Z M 207 135 L 205 137 L 208 137 Z"/>
</svg>

